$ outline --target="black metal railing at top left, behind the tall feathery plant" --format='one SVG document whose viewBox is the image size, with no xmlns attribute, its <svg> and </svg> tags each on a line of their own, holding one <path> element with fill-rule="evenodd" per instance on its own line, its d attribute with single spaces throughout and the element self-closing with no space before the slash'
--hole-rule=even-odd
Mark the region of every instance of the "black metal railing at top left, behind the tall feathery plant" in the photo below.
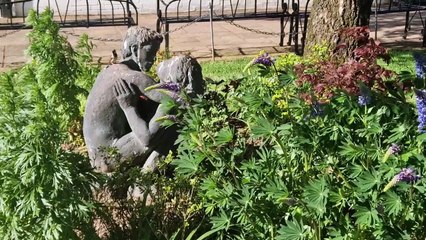
<svg viewBox="0 0 426 240">
<path fill-rule="evenodd" d="M 27 28 L 28 11 L 50 8 L 61 27 L 132 26 L 138 10 L 132 0 L 0 0 L 0 30 Z"/>
</svg>

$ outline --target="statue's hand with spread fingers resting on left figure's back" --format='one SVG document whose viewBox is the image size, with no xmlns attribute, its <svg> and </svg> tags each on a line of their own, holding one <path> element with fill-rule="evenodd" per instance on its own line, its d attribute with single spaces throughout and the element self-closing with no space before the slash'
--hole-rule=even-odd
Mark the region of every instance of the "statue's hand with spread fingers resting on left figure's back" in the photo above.
<svg viewBox="0 0 426 240">
<path fill-rule="evenodd" d="M 117 80 L 114 83 L 113 90 L 118 104 L 120 104 L 122 109 L 136 106 L 139 96 L 126 80 Z"/>
</svg>

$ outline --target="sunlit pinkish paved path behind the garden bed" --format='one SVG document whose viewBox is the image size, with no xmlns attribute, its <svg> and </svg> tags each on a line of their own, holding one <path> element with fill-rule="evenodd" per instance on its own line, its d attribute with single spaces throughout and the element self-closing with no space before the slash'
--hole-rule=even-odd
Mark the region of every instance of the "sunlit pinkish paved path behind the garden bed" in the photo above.
<svg viewBox="0 0 426 240">
<path fill-rule="evenodd" d="M 374 37 L 374 16 L 371 19 L 371 36 Z M 378 17 L 378 40 L 391 48 L 413 49 L 421 48 L 421 21 L 419 15 L 413 18 L 411 30 L 406 39 L 402 38 L 404 32 L 405 13 L 393 13 Z M 146 14 L 139 16 L 139 24 L 155 29 L 156 16 Z M 279 32 L 278 19 L 241 20 L 238 24 L 266 32 Z M 176 29 L 184 24 L 172 24 L 170 29 Z M 111 51 L 121 49 L 121 39 L 124 37 L 126 27 L 91 27 L 67 28 L 61 32 L 68 36 L 73 46 L 77 43 L 78 36 L 87 33 L 96 48 L 93 52 L 95 60 L 108 63 Z M 13 68 L 27 61 L 25 49 L 28 46 L 26 35 L 29 30 L 0 31 L 0 71 Z M 1 37 L 4 34 L 7 36 Z M 284 43 L 288 40 L 288 36 Z M 257 54 L 260 50 L 270 53 L 291 51 L 291 47 L 278 46 L 278 36 L 262 35 L 237 28 L 226 22 L 214 23 L 214 41 L 217 59 Z M 164 44 L 163 44 L 164 48 Z M 170 35 L 170 49 L 173 53 L 190 53 L 200 60 L 211 58 L 210 25 L 209 23 L 195 23 Z"/>
</svg>

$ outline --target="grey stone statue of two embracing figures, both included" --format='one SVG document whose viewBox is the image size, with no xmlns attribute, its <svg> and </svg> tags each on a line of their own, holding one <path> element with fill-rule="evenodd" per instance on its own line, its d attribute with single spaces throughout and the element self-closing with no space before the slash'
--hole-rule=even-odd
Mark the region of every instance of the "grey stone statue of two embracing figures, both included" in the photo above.
<svg viewBox="0 0 426 240">
<path fill-rule="evenodd" d="M 155 168 L 155 160 L 173 148 L 176 129 L 156 121 L 167 115 L 161 107 L 164 94 L 145 91 L 156 84 L 144 72 L 153 65 L 162 40 L 150 29 L 129 28 L 123 60 L 105 68 L 96 79 L 86 103 L 83 134 L 98 171 L 113 171 L 120 163 L 107 156 L 107 148 L 117 149 L 120 161 L 144 169 Z M 178 83 L 190 95 L 203 92 L 201 67 L 195 59 L 173 58 L 160 64 L 158 72 L 162 83 Z"/>
</svg>

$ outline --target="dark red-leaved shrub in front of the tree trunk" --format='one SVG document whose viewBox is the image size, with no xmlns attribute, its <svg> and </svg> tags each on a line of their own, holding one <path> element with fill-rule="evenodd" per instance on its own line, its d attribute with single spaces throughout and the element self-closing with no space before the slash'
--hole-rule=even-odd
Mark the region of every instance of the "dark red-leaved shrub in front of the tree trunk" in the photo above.
<svg viewBox="0 0 426 240">
<path fill-rule="evenodd" d="M 368 89 L 385 90 L 384 80 L 390 78 L 392 72 L 378 65 L 377 60 L 388 60 L 389 56 L 385 48 L 368 38 L 365 27 L 345 29 L 343 34 L 357 43 L 350 58 L 343 63 L 341 58 L 330 58 L 320 64 L 300 64 L 296 67 L 297 82 L 299 85 L 306 84 L 307 91 L 312 91 L 320 101 L 326 102 L 337 91 L 344 91 L 352 96 L 361 96 L 360 103 L 364 104 L 371 98 L 369 94 L 366 95 Z M 338 46 L 336 55 L 346 48 Z"/>
</svg>

